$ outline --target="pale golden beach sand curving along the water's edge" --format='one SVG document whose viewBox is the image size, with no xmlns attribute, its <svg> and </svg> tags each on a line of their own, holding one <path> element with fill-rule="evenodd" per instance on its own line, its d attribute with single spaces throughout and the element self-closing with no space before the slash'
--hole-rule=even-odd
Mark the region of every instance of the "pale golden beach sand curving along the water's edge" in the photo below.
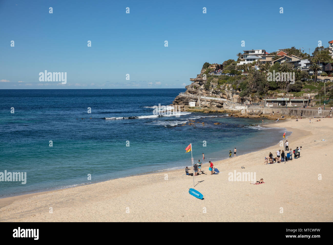
<svg viewBox="0 0 333 245">
<path fill-rule="evenodd" d="M 276 156 L 276 150 L 283 150 L 277 144 L 213 162 L 220 170 L 218 175 L 210 175 L 208 164 L 202 165 L 207 175 L 194 177 L 194 189 L 203 194 L 203 200 L 189 195 L 193 177 L 183 175 L 181 169 L 3 198 L 0 221 L 333 221 L 333 119 L 317 119 L 312 118 L 311 124 L 304 118 L 269 125 L 293 132 L 287 140 L 289 149 L 302 146 L 299 159 L 264 165 L 269 152 Z M 325 141 L 314 141 L 322 139 Z M 237 154 L 241 149 L 237 148 Z M 222 155 L 228 156 L 228 152 Z M 234 170 L 255 172 L 256 180 L 263 178 L 265 184 L 228 181 L 228 173 Z"/>
</svg>

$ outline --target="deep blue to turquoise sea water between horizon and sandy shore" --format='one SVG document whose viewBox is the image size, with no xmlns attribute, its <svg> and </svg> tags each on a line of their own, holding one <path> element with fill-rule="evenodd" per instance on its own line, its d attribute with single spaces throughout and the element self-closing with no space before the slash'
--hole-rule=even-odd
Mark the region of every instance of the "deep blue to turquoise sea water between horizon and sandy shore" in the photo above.
<svg viewBox="0 0 333 245">
<path fill-rule="evenodd" d="M 282 129 L 246 126 L 261 119 L 153 115 L 149 107 L 169 105 L 184 91 L 0 90 L 0 172 L 27 172 L 26 184 L 0 182 L 0 197 L 190 166 L 190 153 L 184 153 L 189 143 L 194 161 L 203 152 L 208 162 L 227 158 L 234 147 L 245 154 L 281 139 Z M 133 116 L 138 118 L 126 119 Z M 205 125 L 181 126 L 190 119 Z"/>
</svg>

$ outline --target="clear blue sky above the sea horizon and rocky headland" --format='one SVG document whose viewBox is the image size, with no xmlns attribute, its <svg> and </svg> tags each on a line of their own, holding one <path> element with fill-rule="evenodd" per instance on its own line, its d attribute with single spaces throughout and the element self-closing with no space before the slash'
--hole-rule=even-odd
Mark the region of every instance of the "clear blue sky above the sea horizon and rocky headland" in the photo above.
<svg viewBox="0 0 333 245">
<path fill-rule="evenodd" d="M 295 46 L 312 53 L 319 40 L 327 47 L 331 5 L 0 0 L 0 89 L 183 88 L 204 62 L 237 59 L 242 50 Z M 44 70 L 67 72 L 67 83 L 40 82 Z"/>
</svg>

